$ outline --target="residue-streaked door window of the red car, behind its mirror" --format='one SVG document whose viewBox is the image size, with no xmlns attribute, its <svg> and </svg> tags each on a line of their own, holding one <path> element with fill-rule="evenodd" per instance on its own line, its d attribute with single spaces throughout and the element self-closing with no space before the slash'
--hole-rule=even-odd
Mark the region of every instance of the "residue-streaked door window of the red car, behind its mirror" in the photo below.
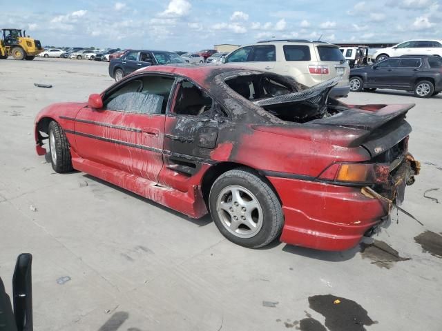
<svg viewBox="0 0 442 331">
<path fill-rule="evenodd" d="M 173 86 L 172 77 L 144 76 L 133 79 L 109 94 L 104 109 L 140 114 L 165 114 Z"/>
</svg>

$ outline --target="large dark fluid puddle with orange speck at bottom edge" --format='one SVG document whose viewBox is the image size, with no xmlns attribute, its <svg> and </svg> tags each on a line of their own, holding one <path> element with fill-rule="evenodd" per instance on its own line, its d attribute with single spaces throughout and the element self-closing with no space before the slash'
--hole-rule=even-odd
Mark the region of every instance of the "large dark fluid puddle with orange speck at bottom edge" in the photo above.
<svg viewBox="0 0 442 331">
<path fill-rule="evenodd" d="M 373 321 L 367 313 L 367 310 L 355 301 L 336 297 L 332 294 L 315 295 L 309 297 L 310 308 L 322 314 L 325 317 L 325 326 L 330 331 L 363 331 L 366 330 L 364 325 L 372 325 L 378 322 Z M 311 318 L 309 318 L 311 319 Z M 318 321 L 316 321 L 318 322 Z M 318 325 L 313 321 L 305 321 L 305 325 Z M 320 323 L 319 323 L 320 324 Z M 307 327 L 307 326 L 306 326 Z M 300 329 L 300 330 L 318 330 L 323 331 L 325 328 L 316 326 L 316 329 Z"/>
</svg>

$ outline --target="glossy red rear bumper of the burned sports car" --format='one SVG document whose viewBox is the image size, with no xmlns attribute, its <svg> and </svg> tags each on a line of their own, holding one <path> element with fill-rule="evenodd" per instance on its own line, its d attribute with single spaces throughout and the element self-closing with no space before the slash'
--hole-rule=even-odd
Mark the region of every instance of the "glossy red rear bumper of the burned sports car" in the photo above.
<svg viewBox="0 0 442 331">
<path fill-rule="evenodd" d="M 267 177 L 282 201 L 285 224 L 280 241 L 318 250 L 347 250 L 388 215 L 384 201 L 360 188 Z"/>
</svg>

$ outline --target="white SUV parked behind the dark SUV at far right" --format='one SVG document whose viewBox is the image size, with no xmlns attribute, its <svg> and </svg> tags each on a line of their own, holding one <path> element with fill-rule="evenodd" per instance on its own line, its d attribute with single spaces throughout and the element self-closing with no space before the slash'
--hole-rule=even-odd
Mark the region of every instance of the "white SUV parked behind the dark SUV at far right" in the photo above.
<svg viewBox="0 0 442 331">
<path fill-rule="evenodd" d="M 402 55 L 436 55 L 442 57 L 442 40 L 408 40 L 398 43 L 393 47 L 376 50 L 372 59 L 376 62 L 389 57 L 401 57 Z"/>
</svg>

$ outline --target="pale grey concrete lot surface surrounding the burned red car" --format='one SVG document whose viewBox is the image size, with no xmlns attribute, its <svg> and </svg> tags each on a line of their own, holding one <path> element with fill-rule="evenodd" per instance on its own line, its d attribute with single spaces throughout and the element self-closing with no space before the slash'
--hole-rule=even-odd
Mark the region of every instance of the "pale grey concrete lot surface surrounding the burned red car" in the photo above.
<svg viewBox="0 0 442 331">
<path fill-rule="evenodd" d="M 422 170 L 402 207 L 423 226 L 394 210 L 389 228 L 345 252 L 249 250 L 210 217 L 188 219 L 81 172 L 57 174 L 37 156 L 37 112 L 102 92 L 113 83 L 107 68 L 0 61 L 0 275 L 10 293 L 15 258 L 33 254 L 35 330 L 441 330 L 442 95 L 343 99 L 416 103 L 407 120 Z M 430 189 L 439 203 L 424 197 Z"/>
</svg>

